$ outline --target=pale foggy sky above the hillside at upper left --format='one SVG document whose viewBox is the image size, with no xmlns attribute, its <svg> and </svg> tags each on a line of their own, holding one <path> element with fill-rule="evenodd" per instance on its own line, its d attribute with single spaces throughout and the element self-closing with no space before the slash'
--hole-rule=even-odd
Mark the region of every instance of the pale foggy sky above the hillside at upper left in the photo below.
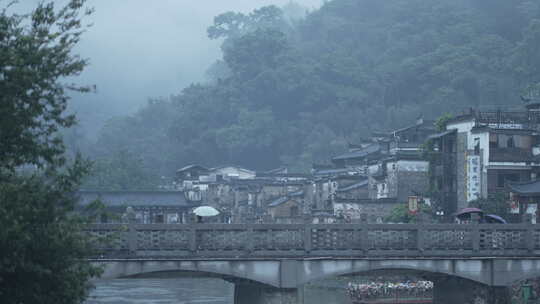
<svg viewBox="0 0 540 304">
<path fill-rule="evenodd" d="M 220 41 L 206 34 L 215 16 L 289 1 L 89 1 L 95 13 L 87 21 L 93 26 L 83 36 L 79 53 L 91 64 L 77 81 L 95 84 L 97 92 L 74 96 L 72 103 L 86 135 L 94 135 L 111 116 L 132 113 L 149 98 L 177 94 L 203 80 L 206 69 L 221 56 Z M 39 2 L 20 1 L 14 9 L 26 12 Z M 313 9 L 322 1 L 294 2 Z"/>
</svg>

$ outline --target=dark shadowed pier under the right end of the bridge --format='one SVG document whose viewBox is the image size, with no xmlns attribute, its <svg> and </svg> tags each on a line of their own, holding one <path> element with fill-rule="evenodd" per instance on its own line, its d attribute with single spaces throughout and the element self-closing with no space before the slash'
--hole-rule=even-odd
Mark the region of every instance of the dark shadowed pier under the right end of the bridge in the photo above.
<svg viewBox="0 0 540 304">
<path fill-rule="evenodd" d="M 508 287 L 488 286 L 456 277 L 433 280 L 435 304 L 510 304 Z"/>
</svg>

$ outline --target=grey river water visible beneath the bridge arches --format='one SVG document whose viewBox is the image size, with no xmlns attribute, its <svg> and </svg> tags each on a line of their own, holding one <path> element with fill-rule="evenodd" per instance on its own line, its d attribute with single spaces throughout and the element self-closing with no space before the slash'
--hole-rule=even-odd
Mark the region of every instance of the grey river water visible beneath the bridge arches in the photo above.
<svg viewBox="0 0 540 304">
<path fill-rule="evenodd" d="M 307 285 L 304 302 L 349 304 L 345 290 L 333 285 Z M 233 292 L 233 284 L 220 279 L 115 279 L 96 282 L 86 304 L 233 304 Z"/>
</svg>

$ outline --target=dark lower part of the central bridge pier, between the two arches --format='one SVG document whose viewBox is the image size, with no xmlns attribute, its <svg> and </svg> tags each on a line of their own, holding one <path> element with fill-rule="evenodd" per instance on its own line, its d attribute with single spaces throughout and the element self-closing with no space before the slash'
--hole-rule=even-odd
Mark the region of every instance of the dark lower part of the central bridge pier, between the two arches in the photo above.
<svg viewBox="0 0 540 304">
<path fill-rule="evenodd" d="M 234 304 L 303 304 L 303 288 L 276 288 L 252 282 L 236 282 Z"/>
</svg>

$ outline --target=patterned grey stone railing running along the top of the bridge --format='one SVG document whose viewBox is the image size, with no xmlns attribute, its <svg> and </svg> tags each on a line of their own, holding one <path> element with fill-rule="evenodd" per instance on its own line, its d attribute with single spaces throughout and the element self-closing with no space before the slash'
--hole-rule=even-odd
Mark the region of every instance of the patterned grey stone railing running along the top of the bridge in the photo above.
<svg viewBox="0 0 540 304">
<path fill-rule="evenodd" d="M 113 257 L 531 256 L 540 225 L 96 224 L 87 232 Z"/>
</svg>

